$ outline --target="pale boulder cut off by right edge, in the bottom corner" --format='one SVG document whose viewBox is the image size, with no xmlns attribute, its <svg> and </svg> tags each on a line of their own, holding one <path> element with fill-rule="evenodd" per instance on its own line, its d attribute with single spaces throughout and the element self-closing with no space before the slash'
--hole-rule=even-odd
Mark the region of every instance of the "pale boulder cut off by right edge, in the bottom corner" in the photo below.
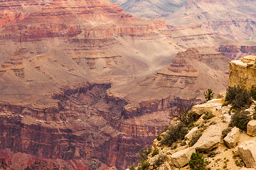
<svg viewBox="0 0 256 170">
<path fill-rule="evenodd" d="M 238 146 L 238 154 L 247 168 L 256 168 L 256 139 L 247 140 Z"/>
</svg>

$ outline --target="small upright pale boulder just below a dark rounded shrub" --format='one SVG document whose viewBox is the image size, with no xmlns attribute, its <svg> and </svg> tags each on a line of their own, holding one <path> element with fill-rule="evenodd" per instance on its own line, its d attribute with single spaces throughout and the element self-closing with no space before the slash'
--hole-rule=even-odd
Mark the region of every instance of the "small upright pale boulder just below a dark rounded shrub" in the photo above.
<svg viewBox="0 0 256 170">
<path fill-rule="evenodd" d="M 233 148 L 235 147 L 236 143 L 238 142 L 238 137 L 240 134 L 239 128 L 232 128 L 232 130 L 228 133 L 228 135 L 223 139 L 225 145 L 228 148 Z"/>
</svg>

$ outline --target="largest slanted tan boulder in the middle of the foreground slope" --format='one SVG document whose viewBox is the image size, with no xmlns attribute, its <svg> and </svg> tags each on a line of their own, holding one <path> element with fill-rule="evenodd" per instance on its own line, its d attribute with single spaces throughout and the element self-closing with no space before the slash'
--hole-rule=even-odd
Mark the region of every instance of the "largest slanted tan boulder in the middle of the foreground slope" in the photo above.
<svg viewBox="0 0 256 170">
<path fill-rule="evenodd" d="M 210 150 L 218 147 L 223 129 L 221 124 L 210 125 L 193 147 L 199 152 L 210 152 Z"/>
</svg>

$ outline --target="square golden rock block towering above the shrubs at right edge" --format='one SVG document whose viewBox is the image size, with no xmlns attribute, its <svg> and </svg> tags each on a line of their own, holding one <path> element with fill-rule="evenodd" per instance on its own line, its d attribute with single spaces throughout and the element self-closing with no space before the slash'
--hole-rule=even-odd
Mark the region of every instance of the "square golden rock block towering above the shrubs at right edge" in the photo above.
<svg viewBox="0 0 256 170">
<path fill-rule="evenodd" d="M 230 62 L 228 86 L 240 86 L 250 91 L 255 86 L 255 55 L 248 55 L 241 60 Z"/>
</svg>

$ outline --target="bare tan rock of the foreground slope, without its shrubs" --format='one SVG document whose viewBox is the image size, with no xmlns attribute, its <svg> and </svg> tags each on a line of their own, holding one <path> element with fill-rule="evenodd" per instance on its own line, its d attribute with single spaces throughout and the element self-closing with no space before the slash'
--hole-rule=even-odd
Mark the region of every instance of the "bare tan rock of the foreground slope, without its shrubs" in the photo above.
<svg viewBox="0 0 256 170">
<path fill-rule="evenodd" d="M 250 55 L 243 57 L 241 60 L 230 62 L 228 85 L 239 85 L 249 90 L 252 85 L 255 86 L 255 76 L 253 76 L 255 75 L 255 61 L 255 55 Z M 221 137 L 221 132 L 228 128 L 230 123 L 230 118 L 228 117 L 233 114 L 232 111 L 231 115 L 229 113 L 230 105 L 223 105 L 225 101 L 224 94 L 225 92 L 219 94 L 218 98 L 193 106 L 191 109 L 201 117 L 194 123 L 198 126 L 192 128 L 188 134 L 196 134 L 196 131 L 202 132 L 201 137 L 193 146 L 188 145 L 192 139 L 192 137 L 188 137 L 189 135 L 186 135 L 183 142 L 177 142 L 176 147 L 174 145 L 166 147 L 155 139 L 151 149 L 158 150 L 158 154 L 154 155 L 152 152 L 148 154 L 145 161 L 148 162 L 148 169 L 190 169 L 188 161 L 192 152 L 196 151 L 204 152 L 203 155 L 209 163 L 207 167 L 210 167 L 210 169 L 255 169 L 255 120 L 250 120 L 247 123 L 247 132 L 234 127 L 224 139 Z M 207 121 L 203 120 L 203 115 L 209 111 L 215 116 Z M 255 113 L 255 101 L 246 111 L 249 111 L 250 115 Z M 177 121 L 174 119 L 171 124 L 175 125 Z M 164 137 L 165 134 L 166 132 L 163 132 L 161 137 Z M 142 164 L 140 163 L 139 166 L 142 166 Z"/>
</svg>

